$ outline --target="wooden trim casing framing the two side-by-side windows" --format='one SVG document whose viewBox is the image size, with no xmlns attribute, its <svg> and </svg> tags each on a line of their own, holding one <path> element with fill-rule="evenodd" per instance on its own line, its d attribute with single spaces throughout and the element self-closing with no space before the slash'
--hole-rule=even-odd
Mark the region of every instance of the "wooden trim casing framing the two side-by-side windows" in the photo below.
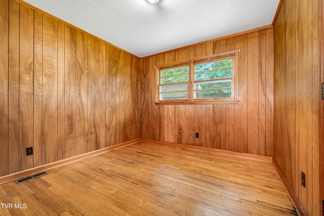
<svg viewBox="0 0 324 216">
<path fill-rule="evenodd" d="M 184 61 L 178 61 L 173 64 L 162 64 L 155 66 L 155 105 L 185 105 L 185 104 L 237 104 L 239 102 L 238 100 L 238 93 L 237 93 L 237 65 L 238 65 L 238 52 L 239 50 L 232 50 L 224 53 L 218 53 L 210 56 L 204 56 L 204 57 L 198 57 L 198 58 L 192 58 Z M 214 60 L 214 59 L 220 59 L 225 58 L 228 56 L 233 56 L 233 63 L 232 63 L 232 97 L 231 98 L 210 98 L 210 99 L 193 99 L 194 94 L 194 68 L 193 63 L 197 63 L 200 61 L 206 61 L 206 60 Z M 186 100 L 159 100 L 159 94 L 160 94 L 160 69 L 167 68 L 167 67 L 175 67 L 175 66 L 181 66 L 188 64 L 189 66 L 189 81 L 188 81 L 188 99 Z"/>
</svg>

